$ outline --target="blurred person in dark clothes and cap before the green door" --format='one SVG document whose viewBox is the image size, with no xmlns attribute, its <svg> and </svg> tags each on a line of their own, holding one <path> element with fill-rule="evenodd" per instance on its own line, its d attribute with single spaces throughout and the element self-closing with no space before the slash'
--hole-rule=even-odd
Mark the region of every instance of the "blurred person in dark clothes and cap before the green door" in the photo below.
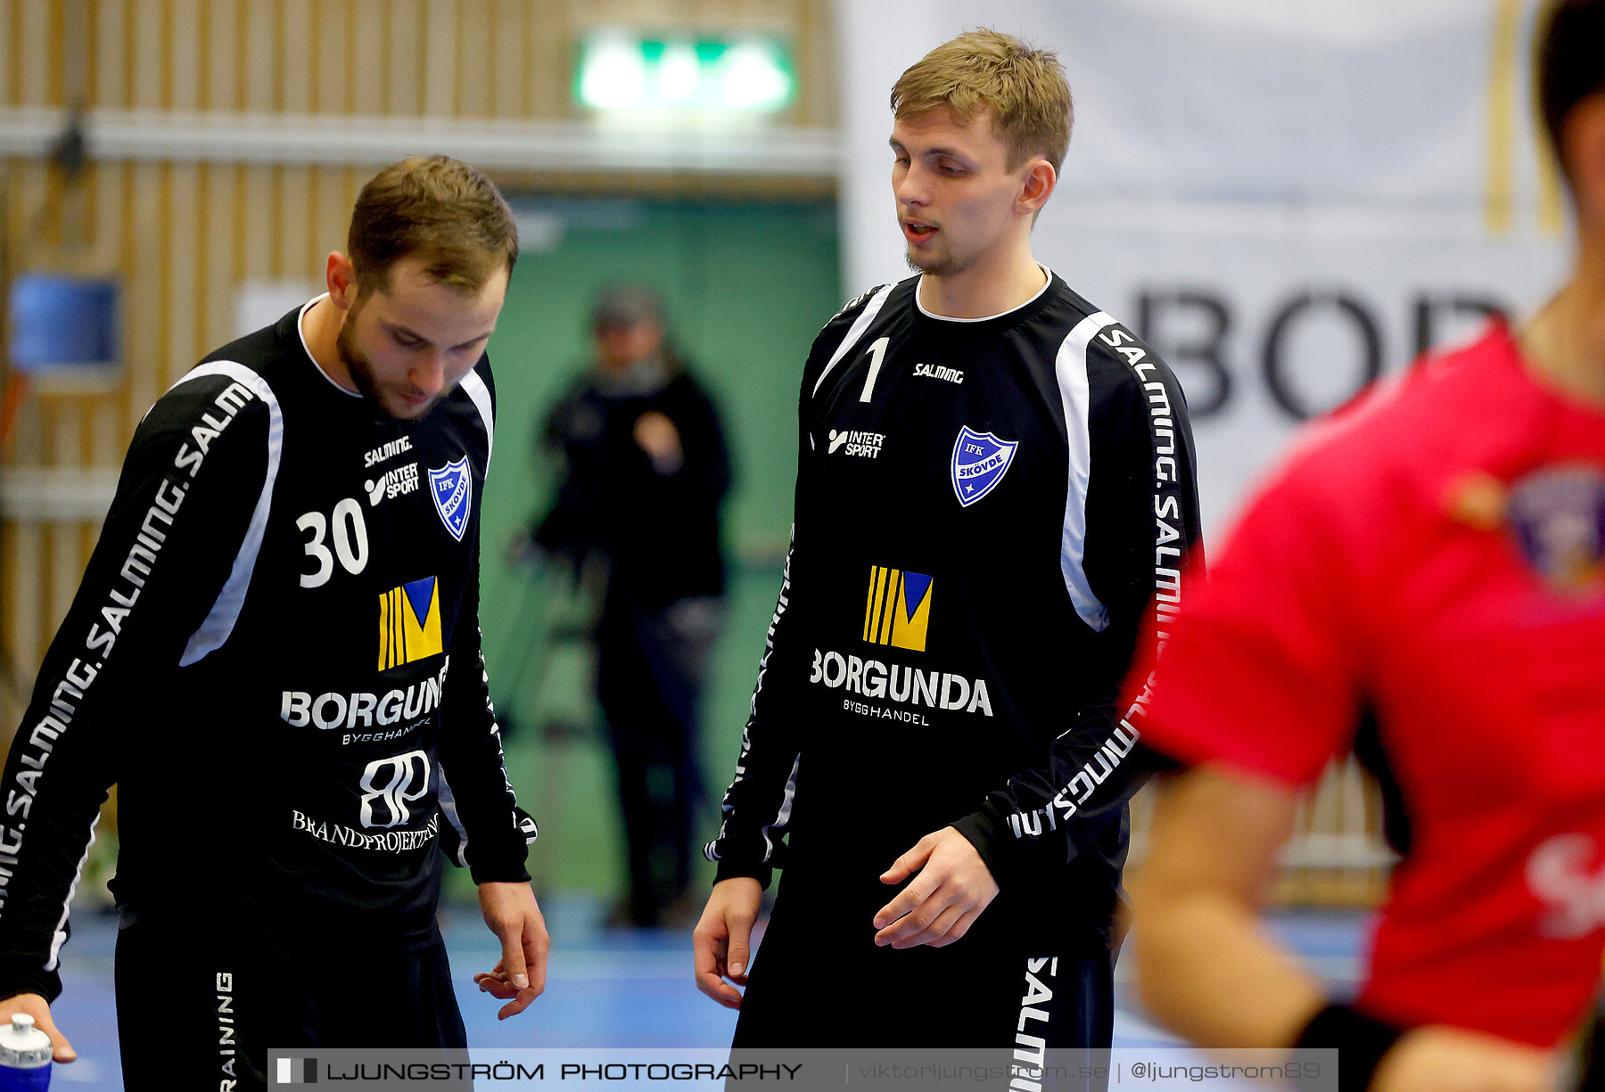
<svg viewBox="0 0 1605 1092">
<path fill-rule="evenodd" d="M 703 799 L 700 704 L 724 617 L 730 455 L 655 293 L 605 290 L 591 329 L 595 358 L 546 419 L 562 479 L 533 537 L 576 574 L 602 569 L 595 688 L 628 855 L 628 890 L 608 925 L 689 925 L 698 908 L 689 887 Z"/>
</svg>

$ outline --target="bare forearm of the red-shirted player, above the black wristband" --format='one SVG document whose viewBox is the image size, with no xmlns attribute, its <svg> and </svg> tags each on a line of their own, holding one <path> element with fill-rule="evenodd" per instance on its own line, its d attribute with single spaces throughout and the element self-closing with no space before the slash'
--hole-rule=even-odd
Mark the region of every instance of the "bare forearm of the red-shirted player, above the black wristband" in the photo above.
<svg viewBox="0 0 1605 1092">
<path fill-rule="evenodd" d="M 1229 895 L 1165 896 L 1133 885 L 1138 991 L 1202 1047 L 1292 1047 L 1326 1004 L 1319 985 Z"/>
</svg>

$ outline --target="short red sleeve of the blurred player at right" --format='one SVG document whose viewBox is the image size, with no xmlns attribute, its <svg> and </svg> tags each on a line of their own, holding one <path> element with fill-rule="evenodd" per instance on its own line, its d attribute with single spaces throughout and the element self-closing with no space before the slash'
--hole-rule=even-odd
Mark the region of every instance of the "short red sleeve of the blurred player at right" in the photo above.
<svg viewBox="0 0 1605 1092">
<path fill-rule="evenodd" d="M 1302 786 L 1348 747 L 1364 592 L 1342 528 L 1351 513 L 1318 470 L 1298 460 L 1254 499 L 1157 664 L 1130 677 L 1133 722 L 1154 750 Z"/>
</svg>

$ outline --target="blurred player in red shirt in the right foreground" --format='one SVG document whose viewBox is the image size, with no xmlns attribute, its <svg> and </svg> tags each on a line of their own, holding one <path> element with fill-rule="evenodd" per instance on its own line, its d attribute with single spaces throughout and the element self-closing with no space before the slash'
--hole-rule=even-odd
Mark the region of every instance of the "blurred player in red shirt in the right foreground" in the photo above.
<svg viewBox="0 0 1605 1092">
<path fill-rule="evenodd" d="M 1337 1047 L 1345 1092 L 1557 1087 L 1600 980 L 1605 0 L 1552 5 L 1536 59 L 1570 281 L 1314 427 L 1128 683 L 1186 766 L 1133 890 L 1146 1005 L 1205 1047 Z M 1258 917 L 1350 750 L 1401 861 L 1343 1001 Z"/>
</svg>

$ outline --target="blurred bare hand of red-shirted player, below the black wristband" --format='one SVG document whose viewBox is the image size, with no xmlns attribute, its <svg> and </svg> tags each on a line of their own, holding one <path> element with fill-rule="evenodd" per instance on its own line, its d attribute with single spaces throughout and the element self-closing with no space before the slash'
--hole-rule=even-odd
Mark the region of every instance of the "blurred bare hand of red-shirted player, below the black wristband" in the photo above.
<svg viewBox="0 0 1605 1092">
<path fill-rule="evenodd" d="M 1558 1081 L 1554 1052 L 1428 1026 L 1406 1033 L 1382 1055 L 1367 1092 L 1557 1092 Z"/>
</svg>

